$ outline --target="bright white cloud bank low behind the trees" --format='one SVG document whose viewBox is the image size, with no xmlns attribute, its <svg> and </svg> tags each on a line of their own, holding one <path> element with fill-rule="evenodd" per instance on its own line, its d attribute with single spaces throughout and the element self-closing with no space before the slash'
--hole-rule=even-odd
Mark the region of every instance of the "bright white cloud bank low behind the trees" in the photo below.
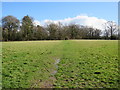
<svg viewBox="0 0 120 90">
<path fill-rule="evenodd" d="M 36 24 L 40 25 L 39 21 L 35 21 Z M 41 22 L 41 25 L 49 24 L 49 23 L 58 23 L 61 22 L 63 25 L 69 25 L 69 24 L 79 24 L 79 25 L 84 25 L 84 26 L 91 26 L 97 29 L 103 29 L 103 24 L 107 22 L 105 19 L 99 19 L 97 17 L 89 17 L 87 15 L 78 15 L 73 18 L 65 18 L 63 20 L 44 20 Z"/>
</svg>

